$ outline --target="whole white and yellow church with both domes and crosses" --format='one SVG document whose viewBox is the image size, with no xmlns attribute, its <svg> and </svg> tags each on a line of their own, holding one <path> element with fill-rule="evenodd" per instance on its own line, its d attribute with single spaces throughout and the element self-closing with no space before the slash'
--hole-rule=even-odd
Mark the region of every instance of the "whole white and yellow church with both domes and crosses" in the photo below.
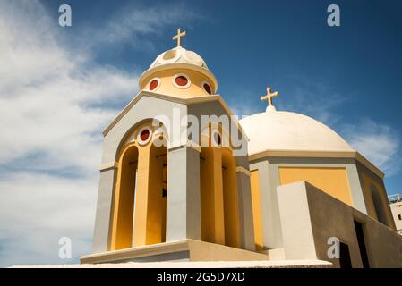
<svg viewBox="0 0 402 286">
<path fill-rule="evenodd" d="M 270 88 L 266 111 L 237 121 L 184 36 L 103 131 L 93 248 L 81 263 L 402 267 L 384 173 L 325 124 L 276 110 Z"/>
</svg>

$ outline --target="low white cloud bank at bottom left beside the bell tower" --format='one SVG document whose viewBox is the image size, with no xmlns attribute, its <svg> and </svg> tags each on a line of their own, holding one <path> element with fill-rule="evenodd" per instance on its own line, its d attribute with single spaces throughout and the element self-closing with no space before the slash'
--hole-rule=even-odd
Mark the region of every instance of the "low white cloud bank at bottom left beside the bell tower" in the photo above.
<svg viewBox="0 0 402 286">
<path fill-rule="evenodd" d="M 0 180 L 2 265 L 71 263 L 58 257 L 58 240 L 73 240 L 73 258 L 90 250 L 96 176 L 60 178 L 32 172 Z"/>
</svg>

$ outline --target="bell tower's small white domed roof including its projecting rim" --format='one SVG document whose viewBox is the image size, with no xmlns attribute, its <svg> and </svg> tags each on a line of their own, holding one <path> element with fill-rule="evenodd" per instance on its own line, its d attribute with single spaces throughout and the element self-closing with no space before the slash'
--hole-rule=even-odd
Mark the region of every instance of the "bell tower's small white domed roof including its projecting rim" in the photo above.
<svg viewBox="0 0 402 286">
<path fill-rule="evenodd" d="M 207 63 L 195 52 L 188 51 L 182 46 L 176 46 L 171 50 L 158 55 L 158 57 L 150 64 L 150 68 L 144 71 L 140 77 L 140 87 L 143 86 L 150 74 L 157 71 L 168 69 L 189 69 L 192 71 L 201 72 L 209 79 L 213 85 L 213 90 L 218 89 L 218 82 L 215 75 L 209 70 Z"/>
</svg>

